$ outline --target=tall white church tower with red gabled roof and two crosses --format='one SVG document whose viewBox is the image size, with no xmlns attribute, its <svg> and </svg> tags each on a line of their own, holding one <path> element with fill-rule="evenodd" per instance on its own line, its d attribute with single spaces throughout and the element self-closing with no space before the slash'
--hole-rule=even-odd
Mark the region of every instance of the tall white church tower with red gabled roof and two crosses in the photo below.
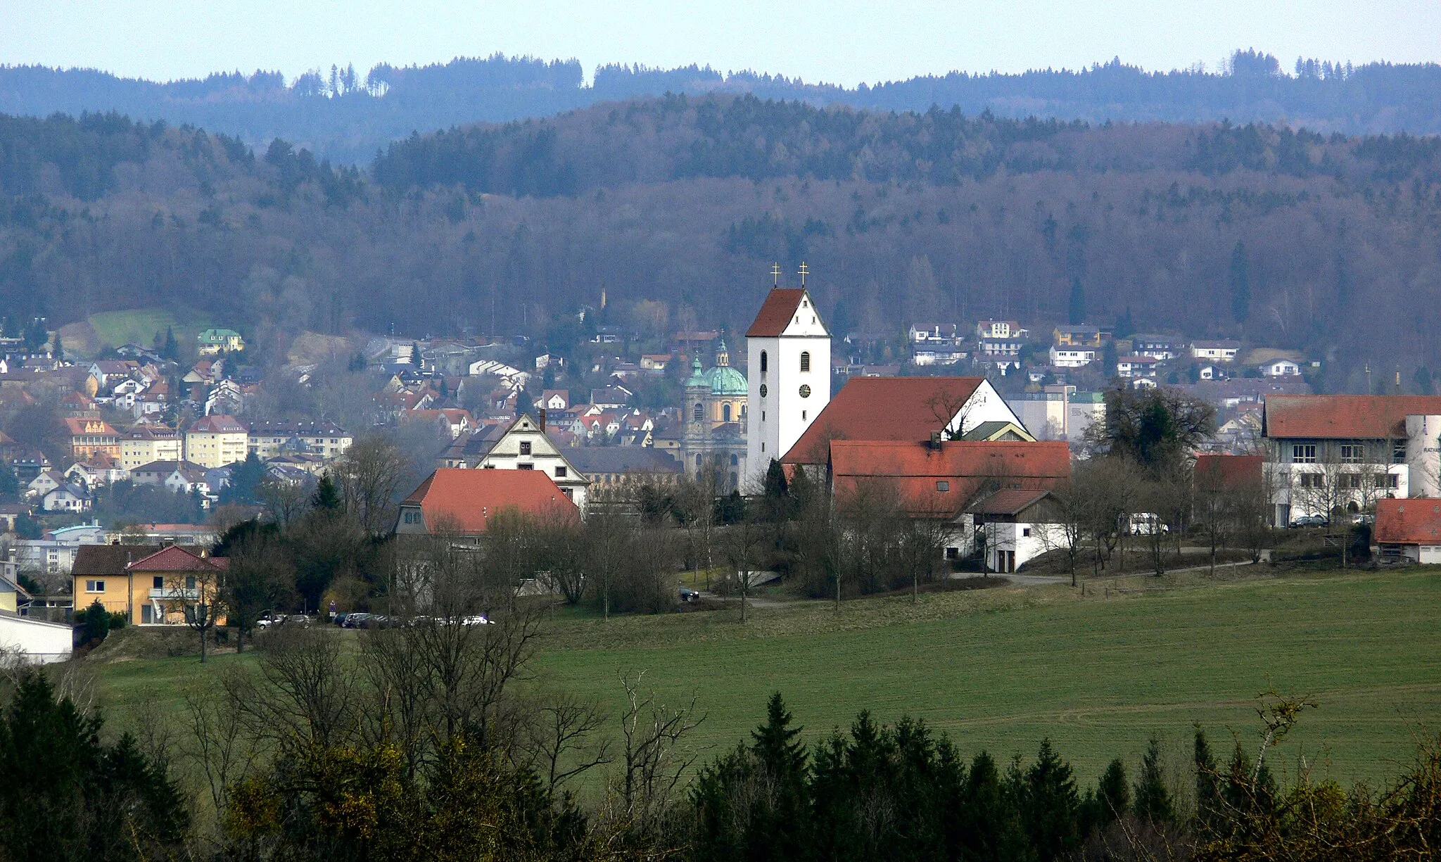
<svg viewBox="0 0 1441 862">
<path fill-rule="evenodd" d="M 771 460 L 781 460 L 830 404 L 830 330 L 806 293 L 806 264 L 798 288 L 780 287 L 780 267 L 771 272 L 777 287 L 745 333 L 751 483 L 764 481 Z"/>
</svg>

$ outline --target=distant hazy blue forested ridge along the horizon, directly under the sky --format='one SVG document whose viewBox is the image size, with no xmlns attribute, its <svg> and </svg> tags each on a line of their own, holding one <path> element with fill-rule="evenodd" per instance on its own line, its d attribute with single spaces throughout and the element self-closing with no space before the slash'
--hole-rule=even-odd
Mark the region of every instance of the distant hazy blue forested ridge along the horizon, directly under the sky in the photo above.
<svg viewBox="0 0 1441 862">
<path fill-rule="evenodd" d="M 0 112 L 48 117 L 118 111 L 231 134 L 251 146 L 272 137 L 336 161 L 369 160 L 412 131 L 540 118 L 601 101 L 664 94 L 754 94 L 813 105 L 883 111 L 958 107 L 977 115 L 1166 123 L 1287 123 L 1321 133 L 1441 133 L 1441 66 L 1349 63 L 1235 52 L 1218 72 L 1147 72 L 1120 61 L 1081 71 L 1022 75 L 924 75 L 855 88 L 784 75 L 686 66 L 610 65 L 586 85 L 576 61 L 491 56 L 444 65 L 378 65 L 307 72 L 213 74 L 159 84 L 91 69 L 0 68 Z"/>
</svg>

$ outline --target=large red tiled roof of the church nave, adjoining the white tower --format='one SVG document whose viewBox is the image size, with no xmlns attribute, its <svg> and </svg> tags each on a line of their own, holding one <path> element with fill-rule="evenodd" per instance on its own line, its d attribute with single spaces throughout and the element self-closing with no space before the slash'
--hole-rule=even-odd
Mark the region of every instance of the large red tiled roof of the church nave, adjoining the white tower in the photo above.
<svg viewBox="0 0 1441 862">
<path fill-rule="evenodd" d="M 801 434 L 785 457 L 787 464 L 826 463 L 831 440 L 931 438 L 951 421 L 986 378 L 852 378 Z M 948 409 L 950 408 L 950 409 Z"/>
</svg>

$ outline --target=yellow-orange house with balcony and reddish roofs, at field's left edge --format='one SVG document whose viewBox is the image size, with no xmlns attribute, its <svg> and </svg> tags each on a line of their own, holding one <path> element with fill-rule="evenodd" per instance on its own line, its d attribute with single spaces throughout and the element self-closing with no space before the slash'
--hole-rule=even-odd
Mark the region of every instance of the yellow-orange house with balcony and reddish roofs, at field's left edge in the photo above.
<svg viewBox="0 0 1441 862">
<path fill-rule="evenodd" d="M 75 554 L 75 610 L 97 600 L 135 626 L 184 624 L 199 604 L 216 604 L 223 556 L 179 545 L 85 545 Z"/>
</svg>

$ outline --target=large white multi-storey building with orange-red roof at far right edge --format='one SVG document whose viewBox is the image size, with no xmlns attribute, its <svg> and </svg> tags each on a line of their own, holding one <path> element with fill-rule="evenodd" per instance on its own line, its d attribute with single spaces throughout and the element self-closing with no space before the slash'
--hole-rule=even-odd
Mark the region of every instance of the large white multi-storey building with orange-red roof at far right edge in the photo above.
<svg viewBox="0 0 1441 862">
<path fill-rule="evenodd" d="M 1261 432 L 1278 525 L 1441 496 L 1441 396 L 1271 395 Z"/>
</svg>

